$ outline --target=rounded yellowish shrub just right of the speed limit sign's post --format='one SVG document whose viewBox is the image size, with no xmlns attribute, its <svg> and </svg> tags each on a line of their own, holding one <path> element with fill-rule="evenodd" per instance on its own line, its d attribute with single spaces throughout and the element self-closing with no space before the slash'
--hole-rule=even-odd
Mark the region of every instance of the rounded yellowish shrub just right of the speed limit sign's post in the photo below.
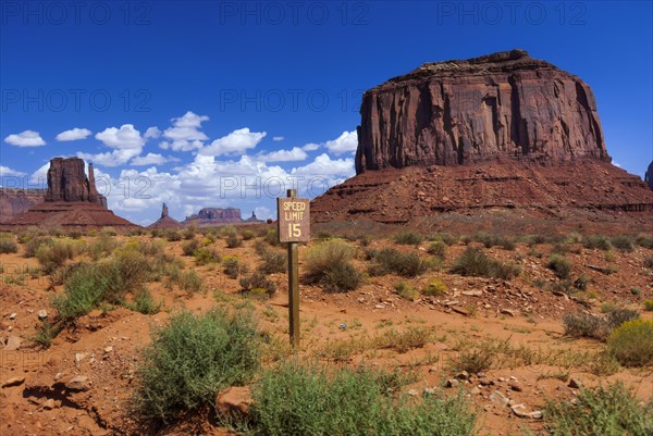
<svg viewBox="0 0 653 436">
<path fill-rule="evenodd" d="M 303 281 L 324 290 L 347 292 L 362 283 L 362 274 L 352 264 L 354 250 L 348 242 L 331 239 L 312 247 L 305 259 Z"/>
</svg>

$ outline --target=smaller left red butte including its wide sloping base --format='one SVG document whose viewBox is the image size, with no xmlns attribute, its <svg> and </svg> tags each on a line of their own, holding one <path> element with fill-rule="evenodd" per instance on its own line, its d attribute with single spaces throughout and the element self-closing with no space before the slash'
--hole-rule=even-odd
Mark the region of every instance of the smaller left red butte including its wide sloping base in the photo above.
<svg viewBox="0 0 653 436">
<path fill-rule="evenodd" d="M 48 170 L 48 189 L 42 202 L 14 216 L 3 226 L 61 226 L 98 228 L 136 227 L 107 209 L 107 199 L 95 186 L 93 164 L 88 177 L 79 158 L 53 158 Z"/>
</svg>

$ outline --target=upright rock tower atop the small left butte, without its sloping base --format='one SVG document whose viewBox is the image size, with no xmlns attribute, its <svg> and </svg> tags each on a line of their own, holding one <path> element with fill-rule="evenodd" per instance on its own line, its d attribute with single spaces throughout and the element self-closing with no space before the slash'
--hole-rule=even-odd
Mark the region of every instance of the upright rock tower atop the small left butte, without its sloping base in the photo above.
<svg viewBox="0 0 653 436">
<path fill-rule="evenodd" d="M 88 177 L 86 177 L 84 160 L 79 158 L 50 160 L 46 201 L 88 201 L 107 207 L 107 199 L 96 189 L 93 164 L 88 165 Z"/>
</svg>

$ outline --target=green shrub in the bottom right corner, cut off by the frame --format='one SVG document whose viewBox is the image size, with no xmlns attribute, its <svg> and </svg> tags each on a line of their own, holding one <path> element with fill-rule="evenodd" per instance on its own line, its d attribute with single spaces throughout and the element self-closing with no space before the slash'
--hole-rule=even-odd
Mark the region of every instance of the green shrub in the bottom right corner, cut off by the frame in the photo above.
<svg viewBox="0 0 653 436">
<path fill-rule="evenodd" d="M 640 406 L 621 384 L 580 389 L 574 404 L 550 400 L 545 427 L 552 436 L 648 436 L 653 432 L 653 402 Z"/>
</svg>

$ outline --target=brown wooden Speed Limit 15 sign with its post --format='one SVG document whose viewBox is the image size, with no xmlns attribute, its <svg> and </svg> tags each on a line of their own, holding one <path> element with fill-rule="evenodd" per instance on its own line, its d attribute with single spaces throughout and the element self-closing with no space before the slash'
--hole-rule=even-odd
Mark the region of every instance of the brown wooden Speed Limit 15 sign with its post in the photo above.
<svg viewBox="0 0 653 436">
<path fill-rule="evenodd" d="M 287 198 L 276 199 L 276 234 L 280 242 L 288 244 L 288 314 L 291 345 L 299 348 L 299 264 L 297 242 L 310 240 L 310 201 L 297 198 L 288 189 Z"/>
</svg>

